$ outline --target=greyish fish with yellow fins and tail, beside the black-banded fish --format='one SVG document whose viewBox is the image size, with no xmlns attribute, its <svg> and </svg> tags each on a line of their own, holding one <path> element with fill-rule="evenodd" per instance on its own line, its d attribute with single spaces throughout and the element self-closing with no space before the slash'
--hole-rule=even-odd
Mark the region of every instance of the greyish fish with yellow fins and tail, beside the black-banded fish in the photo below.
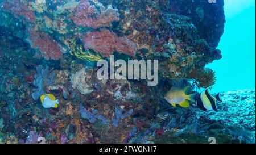
<svg viewBox="0 0 256 155">
<path fill-rule="evenodd" d="M 186 95 L 186 91 L 188 90 L 189 86 L 184 87 L 184 89 L 180 88 L 171 88 L 166 95 L 164 96 L 164 99 L 167 100 L 168 103 L 170 103 L 172 106 L 176 107 L 176 104 L 183 108 L 189 107 L 189 102 L 196 102 L 193 97 L 195 96 L 196 93 Z"/>
</svg>

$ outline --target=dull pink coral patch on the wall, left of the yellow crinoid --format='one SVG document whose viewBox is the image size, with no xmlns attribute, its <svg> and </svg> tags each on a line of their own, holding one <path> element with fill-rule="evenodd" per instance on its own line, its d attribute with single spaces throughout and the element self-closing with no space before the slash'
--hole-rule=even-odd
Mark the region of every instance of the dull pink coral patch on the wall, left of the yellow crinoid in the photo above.
<svg viewBox="0 0 256 155">
<path fill-rule="evenodd" d="M 38 49 L 40 52 L 37 52 L 35 57 L 40 57 L 41 55 L 46 60 L 59 60 L 63 57 L 60 45 L 52 37 L 46 33 L 37 32 L 34 28 L 30 28 L 29 33 L 28 41 L 31 47 Z"/>
</svg>

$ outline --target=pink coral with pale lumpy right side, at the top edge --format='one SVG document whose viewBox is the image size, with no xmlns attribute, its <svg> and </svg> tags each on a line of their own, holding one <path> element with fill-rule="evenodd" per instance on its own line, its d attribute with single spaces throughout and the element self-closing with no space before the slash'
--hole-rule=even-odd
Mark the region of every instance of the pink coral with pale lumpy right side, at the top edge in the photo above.
<svg viewBox="0 0 256 155">
<path fill-rule="evenodd" d="M 100 11 L 94 5 L 90 5 L 88 0 L 81 0 L 71 19 L 79 26 L 93 28 L 111 27 L 111 22 L 119 21 L 118 10 L 113 9 L 112 5 L 104 7 L 98 3 L 97 6 L 100 7 Z"/>
</svg>

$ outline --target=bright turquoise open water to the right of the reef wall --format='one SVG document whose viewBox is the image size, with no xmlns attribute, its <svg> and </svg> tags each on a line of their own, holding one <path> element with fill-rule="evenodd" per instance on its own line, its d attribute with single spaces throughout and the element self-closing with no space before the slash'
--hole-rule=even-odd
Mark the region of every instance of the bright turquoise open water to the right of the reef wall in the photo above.
<svg viewBox="0 0 256 155">
<path fill-rule="evenodd" d="M 218 45 L 222 59 L 213 91 L 255 89 L 255 1 L 225 0 L 226 24 Z"/>
</svg>

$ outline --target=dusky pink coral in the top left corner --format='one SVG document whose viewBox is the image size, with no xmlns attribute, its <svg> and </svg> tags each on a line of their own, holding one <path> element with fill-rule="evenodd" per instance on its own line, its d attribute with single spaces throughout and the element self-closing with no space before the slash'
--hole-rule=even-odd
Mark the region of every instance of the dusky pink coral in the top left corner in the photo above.
<svg viewBox="0 0 256 155">
<path fill-rule="evenodd" d="M 20 1 L 4 1 L 2 3 L 3 10 L 10 12 L 16 18 L 24 18 L 31 23 L 35 22 L 35 14 L 28 8 L 28 5 Z"/>
</svg>

